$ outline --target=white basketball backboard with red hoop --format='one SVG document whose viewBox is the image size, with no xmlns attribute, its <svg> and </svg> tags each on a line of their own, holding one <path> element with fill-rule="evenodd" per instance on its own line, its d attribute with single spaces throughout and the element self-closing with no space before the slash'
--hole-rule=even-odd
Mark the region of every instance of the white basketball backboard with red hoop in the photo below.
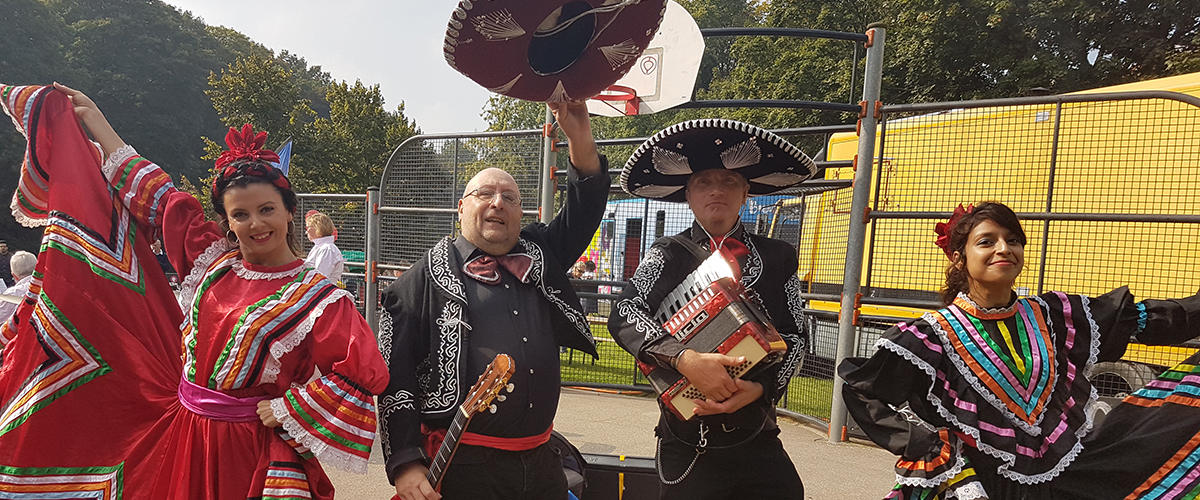
<svg viewBox="0 0 1200 500">
<path fill-rule="evenodd" d="M 662 24 L 637 62 L 613 86 L 588 100 L 588 112 L 600 116 L 644 115 L 683 104 L 691 100 L 703 55 L 704 37 L 696 20 L 679 4 L 667 0 Z"/>
</svg>

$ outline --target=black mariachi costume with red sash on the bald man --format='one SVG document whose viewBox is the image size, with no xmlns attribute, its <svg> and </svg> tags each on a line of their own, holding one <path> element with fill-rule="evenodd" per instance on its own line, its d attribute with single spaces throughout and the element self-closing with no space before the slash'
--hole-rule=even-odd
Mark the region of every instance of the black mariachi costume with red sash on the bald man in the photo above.
<svg viewBox="0 0 1200 500">
<path fill-rule="evenodd" d="M 604 215 L 611 180 L 607 162 L 600 163 L 601 173 L 584 179 L 569 169 L 563 210 L 550 224 L 523 228 L 508 255 L 493 258 L 462 236 L 446 236 L 383 291 L 379 343 L 391 381 L 379 398 L 379 418 L 390 481 L 408 463 L 428 464 L 438 432 L 450 424 L 484 367 L 503 353 L 516 366 L 514 390 L 494 414 L 472 420 L 442 493 L 504 483 L 493 476 L 510 462 L 503 458 L 516 457 L 520 466 L 521 453 L 530 453 L 540 470 L 534 476 L 541 476 L 535 481 L 560 482 L 565 495 L 562 464 L 544 445 L 558 408 L 559 345 L 596 355 L 566 270 Z M 475 267 L 488 261 L 490 270 Z M 508 480 L 520 482 L 520 476 Z"/>
</svg>

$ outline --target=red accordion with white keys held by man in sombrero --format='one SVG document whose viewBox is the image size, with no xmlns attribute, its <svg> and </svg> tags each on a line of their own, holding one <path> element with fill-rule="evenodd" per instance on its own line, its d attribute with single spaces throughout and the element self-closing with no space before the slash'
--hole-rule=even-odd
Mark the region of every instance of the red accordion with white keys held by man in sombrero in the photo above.
<svg viewBox="0 0 1200 500">
<path fill-rule="evenodd" d="M 737 261 L 725 251 L 714 252 L 662 301 L 654 319 L 667 333 L 696 353 L 745 356 L 742 365 L 725 367 L 731 378 L 779 362 L 787 344 L 762 309 L 746 297 Z M 637 363 L 659 400 L 680 420 L 696 410 L 692 399 L 704 399 L 682 374 L 643 362 Z"/>
</svg>

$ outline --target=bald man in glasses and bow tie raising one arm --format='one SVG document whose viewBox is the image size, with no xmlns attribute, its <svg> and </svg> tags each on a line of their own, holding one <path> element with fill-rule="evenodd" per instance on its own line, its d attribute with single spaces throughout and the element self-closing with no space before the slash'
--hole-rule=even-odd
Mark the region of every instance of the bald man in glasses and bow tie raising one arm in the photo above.
<svg viewBox="0 0 1200 500">
<path fill-rule="evenodd" d="M 587 249 L 608 198 L 582 103 L 551 103 L 566 134 L 566 204 L 550 224 L 521 227 L 521 194 L 490 168 L 458 200 L 462 233 L 445 237 L 383 293 L 380 349 L 391 382 L 379 397 L 388 478 L 403 500 L 566 498 L 562 462 L 546 446 L 558 409 L 559 345 L 596 355 L 566 270 Z M 475 379 L 512 356 L 514 391 L 460 441 L 440 494 L 425 475 Z M 444 435 L 444 434 L 442 434 Z"/>
</svg>

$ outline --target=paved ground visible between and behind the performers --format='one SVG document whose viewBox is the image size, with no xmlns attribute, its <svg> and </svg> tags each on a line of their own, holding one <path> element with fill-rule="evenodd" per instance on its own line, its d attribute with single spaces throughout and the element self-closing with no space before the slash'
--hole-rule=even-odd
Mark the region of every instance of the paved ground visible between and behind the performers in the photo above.
<svg viewBox="0 0 1200 500">
<path fill-rule="evenodd" d="M 564 388 L 554 429 L 584 453 L 653 457 L 658 414 L 647 397 Z M 832 445 L 824 429 L 784 417 L 780 428 L 809 499 L 881 499 L 892 488 L 892 453 L 858 442 Z M 366 476 L 328 469 L 337 498 L 388 500 L 395 490 L 388 484 L 382 457 L 377 445 Z"/>
</svg>

